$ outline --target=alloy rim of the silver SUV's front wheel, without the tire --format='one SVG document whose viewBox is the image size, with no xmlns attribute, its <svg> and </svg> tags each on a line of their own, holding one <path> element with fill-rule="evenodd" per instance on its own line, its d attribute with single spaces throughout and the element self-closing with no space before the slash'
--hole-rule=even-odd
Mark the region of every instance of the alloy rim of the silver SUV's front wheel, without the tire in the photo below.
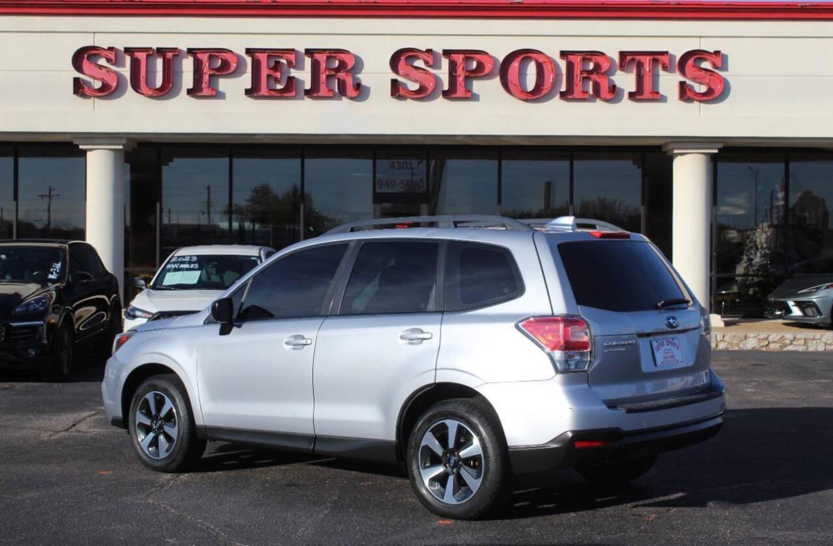
<svg viewBox="0 0 833 546">
<path fill-rule="evenodd" d="M 136 409 L 136 437 L 142 451 L 152 459 L 171 454 L 179 435 L 177 409 L 171 399 L 158 390 L 142 397 Z"/>
</svg>

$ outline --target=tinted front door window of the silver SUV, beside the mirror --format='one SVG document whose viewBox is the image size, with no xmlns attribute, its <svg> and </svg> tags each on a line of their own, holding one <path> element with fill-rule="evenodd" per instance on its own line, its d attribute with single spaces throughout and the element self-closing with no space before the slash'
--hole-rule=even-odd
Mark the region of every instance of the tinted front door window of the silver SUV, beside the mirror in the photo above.
<svg viewBox="0 0 833 546">
<path fill-rule="evenodd" d="M 240 320 L 287 319 L 323 315 L 343 245 L 317 246 L 281 258 L 249 283 Z"/>
</svg>

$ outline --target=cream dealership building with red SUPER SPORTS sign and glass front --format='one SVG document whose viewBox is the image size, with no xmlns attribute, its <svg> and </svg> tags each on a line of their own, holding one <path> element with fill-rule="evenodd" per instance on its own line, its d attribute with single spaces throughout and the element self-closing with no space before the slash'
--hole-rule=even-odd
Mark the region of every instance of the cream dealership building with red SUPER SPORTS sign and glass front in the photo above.
<svg viewBox="0 0 833 546">
<path fill-rule="evenodd" d="M 0 0 L 0 47 L 0 236 L 126 287 L 416 215 L 609 221 L 722 315 L 833 262 L 833 4 Z"/>
</svg>

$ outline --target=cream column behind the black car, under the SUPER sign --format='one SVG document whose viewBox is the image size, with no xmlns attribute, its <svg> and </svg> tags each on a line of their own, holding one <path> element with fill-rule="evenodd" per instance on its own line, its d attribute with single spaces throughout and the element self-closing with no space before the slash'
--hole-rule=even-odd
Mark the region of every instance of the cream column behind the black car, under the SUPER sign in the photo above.
<svg viewBox="0 0 833 546">
<path fill-rule="evenodd" d="M 77 138 L 87 151 L 87 242 L 107 271 L 116 275 L 124 305 L 124 151 L 125 138 Z"/>
</svg>

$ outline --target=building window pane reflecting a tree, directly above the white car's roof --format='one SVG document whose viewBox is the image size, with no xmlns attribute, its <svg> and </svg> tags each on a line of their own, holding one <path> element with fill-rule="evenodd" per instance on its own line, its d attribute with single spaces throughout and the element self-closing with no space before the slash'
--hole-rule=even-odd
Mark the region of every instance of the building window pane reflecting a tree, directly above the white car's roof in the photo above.
<svg viewBox="0 0 833 546">
<path fill-rule="evenodd" d="M 235 150 L 232 181 L 235 242 L 280 250 L 300 241 L 300 153 Z"/>
</svg>

